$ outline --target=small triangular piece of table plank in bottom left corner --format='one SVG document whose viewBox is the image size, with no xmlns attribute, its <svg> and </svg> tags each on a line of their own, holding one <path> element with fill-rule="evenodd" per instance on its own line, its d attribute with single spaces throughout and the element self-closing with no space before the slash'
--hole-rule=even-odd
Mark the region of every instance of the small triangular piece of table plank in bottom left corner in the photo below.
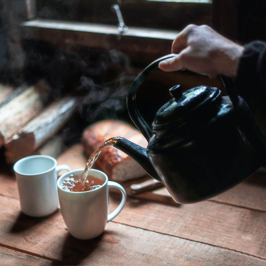
<svg viewBox="0 0 266 266">
<path fill-rule="evenodd" d="M 0 246 L 1 265 L 48 265 L 51 261 Z"/>
</svg>

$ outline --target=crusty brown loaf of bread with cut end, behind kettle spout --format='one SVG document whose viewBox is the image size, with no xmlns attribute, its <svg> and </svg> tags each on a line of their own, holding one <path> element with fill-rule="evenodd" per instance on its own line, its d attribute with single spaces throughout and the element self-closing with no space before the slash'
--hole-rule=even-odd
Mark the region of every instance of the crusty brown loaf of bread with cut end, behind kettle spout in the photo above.
<svg viewBox="0 0 266 266">
<path fill-rule="evenodd" d="M 87 155 L 94 152 L 105 140 L 113 137 L 126 138 L 144 148 L 148 144 L 144 136 L 129 124 L 119 120 L 103 120 L 87 127 L 82 134 L 82 143 Z M 113 146 L 102 150 L 94 166 L 105 172 L 109 179 L 116 181 L 127 181 L 147 175 L 131 157 Z"/>
</svg>

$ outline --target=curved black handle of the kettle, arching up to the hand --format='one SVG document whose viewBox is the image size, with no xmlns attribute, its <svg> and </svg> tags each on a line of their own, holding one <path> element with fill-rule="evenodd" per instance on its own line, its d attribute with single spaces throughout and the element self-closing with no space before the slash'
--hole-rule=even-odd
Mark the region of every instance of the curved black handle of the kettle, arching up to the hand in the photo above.
<svg viewBox="0 0 266 266">
<path fill-rule="evenodd" d="M 147 139 L 149 142 L 150 138 L 154 135 L 151 128 L 148 126 L 146 121 L 143 119 L 143 117 L 140 115 L 139 110 L 136 105 L 136 93 L 140 87 L 140 85 L 143 83 L 144 79 L 151 73 L 153 70 L 159 67 L 159 63 L 165 59 L 169 59 L 171 57 L 177 56 L 178 54 L 172 53 L 169 55 L 165 55 L 163 57 L 160 57 L 153 61 L 151 64 L 149 64 L 146 68 L 140 72 L 138 77 L 135 78 L 132 85 L 130 86 L 130 89 L 128 91 L 127 95 L 127 110 L 130 115 L 131 120 L 134 122 L 135 126 L 142 132 L 143 136 Z M 234 105 L 234 107 L 237 106 L 238 103 L 238 96 L 235 94 L 235 90 L 233 88 L 233 82 L 231 78 L 228 78 L 226 76 L 221 75 L 220 76 L 223 82 L 223 85 L 225 86 L 227 93 Z"/>
</svg>

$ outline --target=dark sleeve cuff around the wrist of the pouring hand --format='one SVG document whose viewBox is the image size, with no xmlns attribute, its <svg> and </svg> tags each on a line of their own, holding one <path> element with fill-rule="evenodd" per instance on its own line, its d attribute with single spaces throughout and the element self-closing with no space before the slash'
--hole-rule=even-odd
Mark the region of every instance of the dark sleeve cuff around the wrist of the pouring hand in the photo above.
<svg viewBox="0 0 266 266">
<path fill-rule="evenodd" d="M 266 43 L 253 41 L 244 48 L 235 77 L 236 90 L 251 108 L 266 109 Z"/>
</svg>

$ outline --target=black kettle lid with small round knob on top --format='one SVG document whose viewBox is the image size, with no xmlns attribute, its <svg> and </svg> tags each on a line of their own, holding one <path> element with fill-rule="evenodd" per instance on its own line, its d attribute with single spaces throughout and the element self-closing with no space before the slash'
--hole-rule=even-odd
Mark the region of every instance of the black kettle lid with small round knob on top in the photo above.
<svg viewBox="0 0 266 266">
<path fill-rule="evenodd" d="M 210 113 L 210 109 L 217 107 L 222 100 L 221 91 L 210 86 L 197 86 L 182 93 L 181 86 L 176 85 L 169 89 L 169 93 L 173 99 L 157 111 L 152 123 L 153 131 Z"/>
</svg>

